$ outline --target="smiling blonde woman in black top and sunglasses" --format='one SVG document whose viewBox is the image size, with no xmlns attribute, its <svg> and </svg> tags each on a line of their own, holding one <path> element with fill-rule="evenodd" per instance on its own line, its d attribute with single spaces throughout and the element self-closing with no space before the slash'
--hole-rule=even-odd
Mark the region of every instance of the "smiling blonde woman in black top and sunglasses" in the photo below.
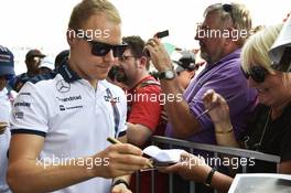
<svg viewBox="0 0 291 193">
<path fill-rule="evenodd" d="M 204 95 L 205 108 L 216 106 L 208 114 L 215 125 L 217 143 L 227 147 L 241 147 L 281 157 L 280 173 L 291 173 L 291 74 L 272 69 L 268 51 L 277 39 L 282 25 L 269 26 L 245 44 L 241 52 L 241 71 L 249 86 L 258 92 L 259 104 L 254 109 L 248 122 L 247 132 L 236 139 L 229 119 L 226 100 L 215 93 L 207 90 Z M 196 182 L 205 182 L 213 187 L 227 192 L 233 179 L 219 173 L 193 154 L 184 154 L 187 164 L 169 167 L 166 172 L 176 172 Z M 255 162 L 252 171 L 268 172 L 270 167 Z"/>
</svg>

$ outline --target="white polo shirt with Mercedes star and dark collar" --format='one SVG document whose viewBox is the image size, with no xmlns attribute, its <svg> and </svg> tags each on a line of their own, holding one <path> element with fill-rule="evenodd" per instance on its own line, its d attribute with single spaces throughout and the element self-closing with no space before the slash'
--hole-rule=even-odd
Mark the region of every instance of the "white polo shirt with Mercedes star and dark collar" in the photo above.
<svg viewBox="0 0 291 193">
<path fill-rule="evenodd" d="M 95 90 L 66 64 L 57 74 L 40 79 L 20 90 L 12 109 L 11 132 L 43 136 L 43 161 L 56 164 L 93 156 L 109 146 L 108 137 L 126 133 L 127 100 L 121 88 L 99 81 Z M 111 180 L 95 178 L 56 192 L 107 193 L 110 185 Z"/>
</svg>

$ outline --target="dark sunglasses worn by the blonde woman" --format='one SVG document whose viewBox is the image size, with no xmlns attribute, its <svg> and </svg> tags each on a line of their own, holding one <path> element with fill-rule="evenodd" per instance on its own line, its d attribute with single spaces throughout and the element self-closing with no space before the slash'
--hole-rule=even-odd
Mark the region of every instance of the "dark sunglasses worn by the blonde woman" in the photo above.
<svg viewBox="0 0 291 193">
<path fill-rule="evenodd" d="M 249 73 L 245 72 L 241 66 L 240 69 L 247 79 L 251 77 L 257 83 L 263 83 L 266 75 L 269 74 L 265 67 L 259 65 L 251 66 Z"/>
</svg>

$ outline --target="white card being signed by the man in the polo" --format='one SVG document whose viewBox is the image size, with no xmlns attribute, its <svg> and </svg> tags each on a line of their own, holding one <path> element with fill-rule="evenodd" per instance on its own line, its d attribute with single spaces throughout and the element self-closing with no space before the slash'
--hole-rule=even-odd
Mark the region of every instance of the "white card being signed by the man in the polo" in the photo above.
<svg viewBox="0 0 291 193">
<path fill-rule="evenodd" d="M 143 153 L 150 156 L 158 162 L 177 163 L 181 160 L 181 153 L 185 152 L 181 149 L 162 150 L 157 146 L 149 146 L 143 150 Z"/>
</svg>

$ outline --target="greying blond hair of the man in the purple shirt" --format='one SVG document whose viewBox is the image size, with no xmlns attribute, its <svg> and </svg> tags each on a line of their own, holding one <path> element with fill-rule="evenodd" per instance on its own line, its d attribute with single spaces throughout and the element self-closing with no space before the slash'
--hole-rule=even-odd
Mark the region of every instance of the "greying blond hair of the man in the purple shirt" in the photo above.
<svg viewBox="0 0 291 193">
<path fill-rule="evenodd" d="M 228 7 L 228 10 L 226 10 L 225 7 Z M 246 31 L 247 34 L 239 35 L 237 40 L 237 44 L 242 46 L 245 41 L 250 35 L 249 32 L 251 30 L 251 15 L 247 7 L 245 4 L 234 2 L 229 4 L 215 3 L 206 8 L 204 17 L 213 12 L 218 13 L 222 22 L 231 21 L 234 29 L 238 30 L 239 32 Z"/>
</svg>

